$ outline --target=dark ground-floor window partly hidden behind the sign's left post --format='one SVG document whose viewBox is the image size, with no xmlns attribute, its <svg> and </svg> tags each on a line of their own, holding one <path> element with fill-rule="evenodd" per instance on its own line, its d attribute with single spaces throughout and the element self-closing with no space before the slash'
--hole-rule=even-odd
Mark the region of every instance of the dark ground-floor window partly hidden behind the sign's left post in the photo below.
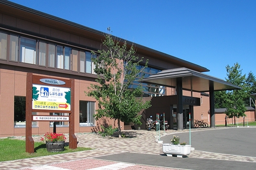
<svg viewBox="0 0 256 170">
<path fill-rule="evenodd" d="M 37 115 L 32 112 L 32 115 Z M 26 127 L 26 97 L 14 96 L 14 127 Z M 32 127 L 37 127 L 37 121 L 32 122 Z"/>
</svg>

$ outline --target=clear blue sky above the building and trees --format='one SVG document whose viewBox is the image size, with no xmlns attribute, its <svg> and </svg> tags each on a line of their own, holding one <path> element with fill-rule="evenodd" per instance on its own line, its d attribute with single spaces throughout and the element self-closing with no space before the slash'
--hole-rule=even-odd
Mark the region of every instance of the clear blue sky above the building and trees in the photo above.
<svg viewBox="0 0 256 170">
<path fill-rule="evenodd" d="M 256 75 L 256 0 L 11 0 L 206 67 Z"/>
</svg>

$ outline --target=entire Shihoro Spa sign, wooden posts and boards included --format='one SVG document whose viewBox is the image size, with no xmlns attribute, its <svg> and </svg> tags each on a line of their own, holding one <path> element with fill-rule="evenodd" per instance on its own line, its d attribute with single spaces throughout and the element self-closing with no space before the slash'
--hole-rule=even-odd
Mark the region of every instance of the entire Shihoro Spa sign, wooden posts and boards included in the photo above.
<svg viewBox="0 0 256 170">
<path fill-rule="evenodd" d="M 34 153 L 32 121 L 69 121 L 69 148 L 77 148 L 74 94 L 74 79 L 53 79 L 27 73 L 26 152 Z M 32 112 L 60 112 L 69 113 L 69 116 L 32 115 Z"/>
</svg>

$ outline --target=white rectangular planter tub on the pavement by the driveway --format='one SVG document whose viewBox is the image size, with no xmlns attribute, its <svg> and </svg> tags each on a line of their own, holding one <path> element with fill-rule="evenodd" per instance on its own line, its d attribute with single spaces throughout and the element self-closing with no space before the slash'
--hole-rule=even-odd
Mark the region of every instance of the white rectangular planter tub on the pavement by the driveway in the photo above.
<svg viewBox="0 0 256 170">
<path fill-rule="evenodd" d="M 169 143 L 163 143 L 163 153 L 167 156 L 183 157 L 190 154 L 191 145 L 174 145 Z"/>
</svg>

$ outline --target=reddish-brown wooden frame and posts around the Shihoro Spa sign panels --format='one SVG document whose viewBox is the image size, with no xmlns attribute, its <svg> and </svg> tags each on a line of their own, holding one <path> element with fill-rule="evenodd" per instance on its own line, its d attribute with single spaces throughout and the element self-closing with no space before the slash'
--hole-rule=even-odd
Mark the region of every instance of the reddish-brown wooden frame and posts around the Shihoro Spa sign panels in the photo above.
<svg viewBox="0 0 256 170">
<path fill-rule="evenodd" d="M 50 84 L 49 83 L 43 83 L 42 79 L 52 79 L 54 81 L 59 81 L 61 83 L 57 84 Z M 63 83 L 64 82 L 64 83 Z M 33 84 L 37 85 L 46 85 L 51 87 L 67 87 L 70 88 L 70 110 L 46 110 L 46 109 L 33 109 L 32 108 L 32 96 L 33 96 Z M 64 112 L 69 113 L 69 148 L 70 149 L 76 149 L 77 148 L 77 138 L 75 135 L 75 116 L 74 116 L 74 87 L 75 87 L 75 81 L 74 79 L 59 79 L 59 78 L 52 78 L 50 76 L 39 76 L 39 75 L 33 75 L 33 73 L 28 72 L 27 73 L 27 84 L 26 84 L 26 152 L 28 153 L 34 153 L 35 151 L 35 144 L 32 137 L 32 112 L 43 112 L 43 113 L 55 113 L 55 112 Z M 34 115 L 34 116 L 40 116 L 40 115 Z M 47 115 L 43 115 L 47 116 Z M 50 115 L 49 115 L 50 117 Z M 52 116 L 51 116 L 52 117 Z M 64 116 L 63 116 L 64 117 Z M 42 121 L 52 121 L 52 120 L 42 120 Z M 63 121 L 63 120 L 61 120 Z"/>
</svg>

